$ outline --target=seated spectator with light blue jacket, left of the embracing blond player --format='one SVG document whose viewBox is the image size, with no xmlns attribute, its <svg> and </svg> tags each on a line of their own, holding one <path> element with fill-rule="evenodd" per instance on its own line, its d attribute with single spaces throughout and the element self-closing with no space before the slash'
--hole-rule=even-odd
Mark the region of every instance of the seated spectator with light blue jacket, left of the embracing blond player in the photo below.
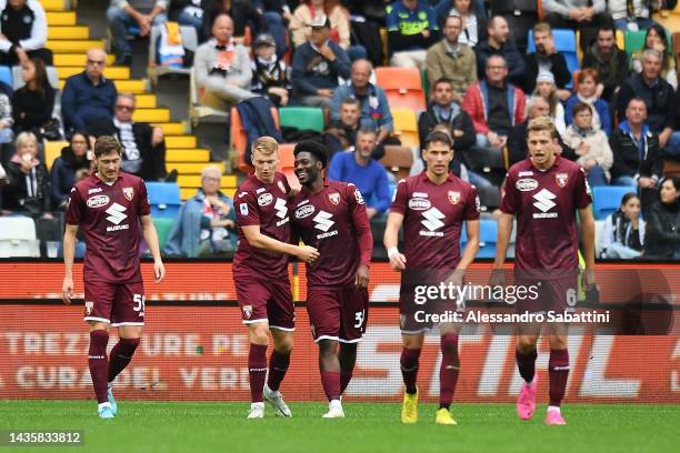
<svg viewBox="0 0 680 453">
<path fill-rule="evenodd" d="M 236 250 L 233 200 L 220 189 L 222 171 L 201 172 L 201 189 L 180 208 L 163 252 L 169 255 L 211 256 Z"/>
</svg>

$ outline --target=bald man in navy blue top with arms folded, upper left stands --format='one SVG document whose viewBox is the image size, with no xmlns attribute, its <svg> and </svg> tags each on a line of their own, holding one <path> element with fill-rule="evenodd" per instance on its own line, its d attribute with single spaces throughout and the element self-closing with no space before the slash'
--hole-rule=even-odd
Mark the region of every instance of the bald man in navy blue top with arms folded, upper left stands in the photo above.
<svg viewBox="0 0 680 453">
<path fill-rule="evenodd" d="M 61 93 L 61 114 L 67 131 L 84 130 L 87 122 L 113 117 L 118 91 L 116 83 L 103 77 L 107 53 L 88 51 L 86 70 L 67 79 Z"/>
</svg>

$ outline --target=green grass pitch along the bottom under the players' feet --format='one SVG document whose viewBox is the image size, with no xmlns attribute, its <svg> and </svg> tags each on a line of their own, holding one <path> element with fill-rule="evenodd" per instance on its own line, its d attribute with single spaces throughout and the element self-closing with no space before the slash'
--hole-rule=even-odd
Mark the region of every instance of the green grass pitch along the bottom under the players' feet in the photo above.
<svg viewBox="0 0 680 453">
<path fill-rule="evenodd" d="M 458 426 L 433 423 L 420 404 L 402 425 L 399 404 L 346 403 L 347 419 L 322 420 L 326 403 L 291 403 L 293 419 L 248 421 L 248 403 L 119 402 L 99 420 L 92 401 L 0 401 L 0 430 L 83 430 L 84 446 L 1 447 L 36 452 L 670 452 L 680 445 L 679 405 L 570 405 L 567 426 L 546 426 L 544 405 L 520 422 L 512 404 L 454 404 Z"/>
</svg>

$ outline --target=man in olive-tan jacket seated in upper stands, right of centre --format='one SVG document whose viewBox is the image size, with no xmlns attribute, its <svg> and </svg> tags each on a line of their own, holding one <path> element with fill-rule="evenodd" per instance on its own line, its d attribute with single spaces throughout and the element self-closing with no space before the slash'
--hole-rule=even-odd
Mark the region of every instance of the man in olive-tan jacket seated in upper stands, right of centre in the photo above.
<svg viewBox="0 0 680 453">
<path fill-rule="evenodd" d="M 430 85 L 442 78 L 450 80 L 456 102 L 461 102 L 466 90 L 477 82 L 477 57 L 472 49 L 460 43 L 461 28 L 460 16 L 448 16 L 443 23 L 443 39 L 426 54 Z"/>
</svg>

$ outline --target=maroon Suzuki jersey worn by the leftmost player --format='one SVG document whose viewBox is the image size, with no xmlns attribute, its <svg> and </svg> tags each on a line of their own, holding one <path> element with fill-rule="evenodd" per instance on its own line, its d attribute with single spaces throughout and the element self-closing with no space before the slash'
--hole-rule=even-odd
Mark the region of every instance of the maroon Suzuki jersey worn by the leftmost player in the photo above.
<svg viewBox="0 0 680 453">
<path fill-rule="evenodd" d="M 120 172 L 112 184 L 96 174 L 71 189 L 66 221 L 86 236 L 84 276 L 109 283 L 140 282 L 138 218 L 151 207 L 141 178 Z"/>
</svg>

